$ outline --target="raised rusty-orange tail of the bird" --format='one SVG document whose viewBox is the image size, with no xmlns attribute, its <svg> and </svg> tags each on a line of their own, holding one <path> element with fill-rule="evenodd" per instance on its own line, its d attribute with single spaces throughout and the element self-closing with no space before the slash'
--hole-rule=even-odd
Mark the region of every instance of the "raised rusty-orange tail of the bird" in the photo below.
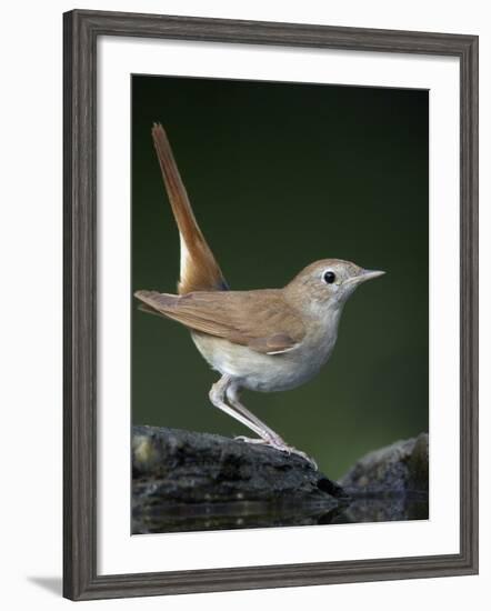
<svg viewBox="0 0 491 611">
<path fill-rule="evenodd" d="M 153 123 L 152 138 L 181 242 L 178 292 L 227 290 L 220 267 L 198 227 L 172 149 L 160 123 Z"/>
</svg>

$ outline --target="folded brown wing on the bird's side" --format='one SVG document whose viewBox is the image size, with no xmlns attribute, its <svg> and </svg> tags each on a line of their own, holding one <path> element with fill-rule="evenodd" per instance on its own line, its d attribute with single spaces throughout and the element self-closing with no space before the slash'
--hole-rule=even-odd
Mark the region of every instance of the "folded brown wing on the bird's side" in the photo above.
<svg viewBox="0 0 491 611">
<path fill-rule="evenodd" d="M 147 311 L 255 352 L 281 354 L 293 350 L 305 334 L 302 320 L 279 290 L 198 291 L 182 297 L 157 291 L 134 294 Z"/>
</svg>

